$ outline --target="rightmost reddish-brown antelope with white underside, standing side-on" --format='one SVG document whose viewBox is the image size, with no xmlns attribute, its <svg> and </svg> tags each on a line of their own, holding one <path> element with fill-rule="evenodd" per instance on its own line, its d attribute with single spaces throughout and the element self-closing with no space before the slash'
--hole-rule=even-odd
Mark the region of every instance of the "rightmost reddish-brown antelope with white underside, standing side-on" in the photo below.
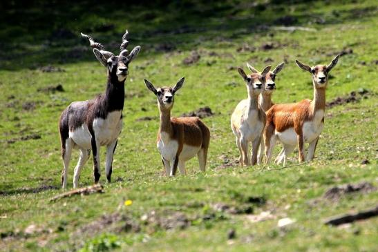
<svg viewBox="0 0 378 252">
<path fill-rule="evenodd" d="M 328 84 L 328 73 L 339 61 L 339 55 L 334 57 L 328 66 L 316 65 L 310 67 L 296 60 L 299 68 L 312 74 L 314 86 L 314 99 L 304 99 L 295 104 L 276 104 L 267 111 L 267 123 L 265 126 L 265 163 L 270 162 L 272 149 L 278 139 L 284 148 L 283 166 L 286 157 L 299 148 L 299 162 L 305 161 L 304 144 L 309 143 L 308 157 L 314 158 L 316 144 L 324 126 L 325 88 Z"/>
</svg>

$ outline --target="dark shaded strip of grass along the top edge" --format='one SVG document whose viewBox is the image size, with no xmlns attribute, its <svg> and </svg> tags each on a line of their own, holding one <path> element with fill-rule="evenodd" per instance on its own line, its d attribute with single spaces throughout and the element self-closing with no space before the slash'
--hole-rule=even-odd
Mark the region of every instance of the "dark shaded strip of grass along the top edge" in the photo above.
<svg viewBox="0 0 378 252">
<path fill-rule="evenodd" d="M 271 26 L 326 26 L 377 12 L 377 6 L 337 10 L 342 3 L 324 3 L 327 12 L 314 14 L 310 7 L 318 1 L 6 1 L 0 3 L 6 10 L 0 17 L 0 68 L 93 61 L 80 31 L 117 53 L 124 28 L 129 28 L 130 47 L 162 53 L 192 50 L 203 41 L 264 35 Z"/>
</svg>

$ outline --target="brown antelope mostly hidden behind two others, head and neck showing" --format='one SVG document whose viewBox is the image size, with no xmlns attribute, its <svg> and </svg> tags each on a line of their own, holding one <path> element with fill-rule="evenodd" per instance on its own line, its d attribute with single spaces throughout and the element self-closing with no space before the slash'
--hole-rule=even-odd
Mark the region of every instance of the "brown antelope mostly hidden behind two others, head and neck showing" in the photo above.
<svg viewBox="0 0 378 252">
<path fill-rule="evenodd" d="M 265 111 L 265 113 L 267 112 L 268 109 L 270 109 L 274 105 L 274 103 L 272 102 L 272 95 L 273 95 L 274 90 L 276 89 L 276 75 L 278 74 L 278 72 L 281 72 L 284 65 L 285 63 L 283 62 L 281 64 L 278 64 L 278 66 L 276 66 L 274 70 L 269 71 L 265 75 L 265 78 L 264 78 L 265 86 L 261 94 L 258 96 L 258 105 Z M 249 65 L 248 63 L 247 63 L 247 67 L 252 72 L 258 72 L 256 68 Z M 258 164 L 261 164 L 263 155 L 264 155 L 264 141 L 263 139 L 261 139 L 260 150 L 258 151 L 258 155 L 257 155 Z"/>
</svg>

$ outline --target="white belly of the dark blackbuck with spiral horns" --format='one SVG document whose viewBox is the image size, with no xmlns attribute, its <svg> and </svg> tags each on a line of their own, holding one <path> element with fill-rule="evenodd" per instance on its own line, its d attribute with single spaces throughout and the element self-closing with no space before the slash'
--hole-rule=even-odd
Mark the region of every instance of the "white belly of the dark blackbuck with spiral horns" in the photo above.
<svg viewBox="0 0 378 252">
<path fill-rule="evenodd" d="M 93 130 L 100 146 L 111 144 L 117 139 L 122 130 L 122 110 L 108 113 L 106 119 L 96 118 L 93 120 Z"/>
</svg>

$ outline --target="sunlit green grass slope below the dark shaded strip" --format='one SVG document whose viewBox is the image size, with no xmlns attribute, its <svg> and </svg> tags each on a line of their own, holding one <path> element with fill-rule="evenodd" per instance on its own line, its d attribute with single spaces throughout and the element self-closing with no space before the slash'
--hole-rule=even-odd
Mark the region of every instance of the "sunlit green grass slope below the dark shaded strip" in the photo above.
<svg viewBox="0 0 378 252">
<path fill-rule="evenodd" d="M 7 233 L 23 230 L 30 224 L 37 224 L 53 233 L 32 235 L 27 239 L 1 240 L 6 250 L 41 250 L 50 246 L 57 250 L 88 247 L 104 239 L 95 234 L 75 237 L 72 235 L 81 226 L 106 213 L 121 212 L 139 220 L 144 213 L 157 211 L 182 211 L 193 219 L 209 211 L 209 205 L 225 202 L 238 206 L 245 204 L 249 196 L 264 196 L 267 204 L 255 206 L 254 213 L 273 211 L 275 220 L 251 223 L 245 215 L 224 214 L 208 222 L 193 221 L 191 227 L 176 231 L 151 231 L 142 227 L 140 233 L 115 233 L 122 250 L 133 251 L 373 251 L 378 244 L 377 218 L 352 224 L 348 229 L 323 226 L 321 220 L 330 215 L 344 213 L 351 209 L 366 209 L 377 204 L 378 193 L 346 197 L 336 204 L 312 206 L 309 200 L 322 195 L 325 189 L 335 184 L 367 180 L 377 185 L 377 96 L 363 99 L 357 104 L 337 106 L 327 111 L 325 128 L 316 150 L 316 159 L 310 164 L 288 168 L 272 165 L 270 171 L 261 168 L 217 168 L 225 157 L 234 159 L 238 151 L 234 136 L 229 128 L 229 116 L 234 106 L 246 96 L 243 81 L 236 70 L 229 66 L 242 66 L 249 61 L 262 69 L 263 61 L 270 57 L 272 64 L 287 58 L 288 63 L 276 80 L 276 102 L 298 101 L 312 97 L 310 75 L 294 64 L 299 58 L 309 64 L 328 63 L 342 48 L 352 48 L 354 53 L 341 57 L 332 70 L 332 79 L 327 90 L 327 100 L 346 95 L 358 88 L 367 88 L 377 93 L 376 59 L 378 28 L 375 1 L 324 5 L 313 3 L 312 8 L 304 4 L 281 6 L 285 13 L 298 18 L 303 26 L 316 28 L 317 32 L 277 32 L 254 30 L 258 18 L 280 17 L 278 10 L 267 8 L 252 15 L 236 9 L 237 21 L 211 17 L 202 32 L 182 35 L 156 35 L 142 37 L 138 41 L 144 48 L 133 62 L 127 79 L 127 93 L 124 108 L 124 130 L 115 154 L 113 178 L 122 181 L 104 184 L 106 193 L 88 197 L 74 197 L 57 203 L 47 199 L 60 193 L 53 189 L 32 193 L 32 188 L 41 185 L 59 186 L 62 162 L 60 160 L 57 118 L 70 101 L 84 100 L 104 90 L 105 70 L 88 57 L 88 61 L 77 61 L 57 65 L 66 72 L 44 73 L 39 70 L 20 68 L 0 70 L 0 139 L 1 170 L 0 191 L 0 231 Z M 335 12 L 337 10 L 337 13 Z M 336 13 L 336 14 L 335 14 Z M 309 24 L 315 17 L 323 17 L 325 24 Z M 158 18 L 154 19 L 160 26 Z M 221 23 L 227 22 L 224 30 Z M 137 23 L 135 21 L 135 23 Z M 153 23 L 152 21 L 149 24 Z M 158 26 L 157 24 L 157 26 Z M 196 22 L 190 23 L 195 26 Z M 123 29 L 122 22 L 117 30 Z M 216 28 L 222 28 L 218 32 Z M 247 28 L 247 30 L 246 30 Z M 142 27 L 141 30 L 149 30 Z M 129 28 L 133 41 L 133 27 Z M 139 31 L 139 34 L 142 34 Z M 269 34 L 274 33 L 274 37 Z M 173 52 L 159 53 L 151 48 L 155 43 L 169 39 L 178 42 Z M 243 43 L 260 48 L 272 41 L 285 44 L 273 50 L 256 52 L 236 52 Z M 52 48 L 52 50 L 59 48 Z M 202 55 L 198 64 L 183 66 L 182 59 L 195 49 Z M 209 56 L 216 52 L 218 56 Z M 26 56 L 21 64 L 30 62 L 47 64 L 44 52 Z M 87 52 L 91 55 L 91 52 Z M 329 54 L 329 55 L 326 55 Z M 46 56 L 47 57 L 47 56 Z M 359 64 L 366 61 L 366 66 Z M 55 62 L 55 60 L 53 60 Z M 17 64 L 6 61 L 6 66 Z M 18 67 L 17 67 L 18 69 Z M 212 138 L 209 153 L 209 169 L 206 174 L 198 172 L 197 160 L 187 164 L 187 177 L 162 177 L 162 167 L 155 148 L 157 120 L 136 122 L 144 116 L 158 115 L 155 98 L 144 87 L 143 78 L 150 79 L 158 86 L 173 85 L 181 77 L 186 77 L 185 86 L 180 90 L 173 108 L 173 115 L 194 110 L 200 106 L 210 106 L 218 115 L 204 119 L 211 128 Z M 233 85 L 235 83 L 236 85 Z M 46 94 L 37 92 L 48 85 L 62 84 L 64 93 Z M 13 95 L 15 99 L 10 100 Z M 33 112 L 21 108 L 26 101 L 36 102 Z M 10 106 L 10 103 L 14 105 Z M 10 106 L 10 107 L 9 107 Z M 147 111 L 142 111 L 145 108 Z M 41 139 L 19 141 L 7 144 L 6 139 L 37 133 Z M 276 148 L 276 152 L 278 148 Z M 102 150 L 102 161 L 104 161 Z M 77 153 L 73 155 L 70 168 Z M 370 164 L 361 165 L 362 159 Z M 102 167 L 104 165 L 102 164 Z M 101 182 L 104 182 L 104 176 Z M 72 183 L 72 182 L 71 182 Z M 92 183 L 91 161 L 86 164 L 80 184 Z M 72 184 L 70 184 L 72 185 Z M 131 206 L 122 206 L 126 199 L 133 200 Z M 281 217 L 292 217 L 296 223 L 281 230 L 276 227 Z M 64 231 L 59 231 L 63 226 Z M 227 231 L 236 229 L 237 237 L 227 242 Z M 375 238 L 374 238 L 375 237 Z M 144 242 L 142 242 L 144 240 Z M 41 247 L 39 247 L 41 246 Z"/>
</svg>

